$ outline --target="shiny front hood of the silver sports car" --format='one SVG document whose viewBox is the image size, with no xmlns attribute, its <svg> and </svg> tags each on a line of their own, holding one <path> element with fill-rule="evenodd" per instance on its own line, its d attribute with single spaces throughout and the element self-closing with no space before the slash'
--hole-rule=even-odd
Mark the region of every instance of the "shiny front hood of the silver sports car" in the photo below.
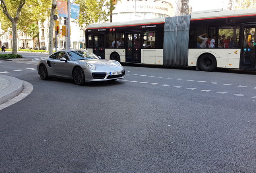
<svg viewBox="0 0 256 173">
<path fill-rule="evenodd" d="M 117 64 L 115 64 L 111 60 L 105 60 L 105 59 L 93 59 L 93 60 L 77 60 L 80 63 L 90 63 L 95 65 L 98 68 L 116 68 L 119 67 Z"/>
</svg>

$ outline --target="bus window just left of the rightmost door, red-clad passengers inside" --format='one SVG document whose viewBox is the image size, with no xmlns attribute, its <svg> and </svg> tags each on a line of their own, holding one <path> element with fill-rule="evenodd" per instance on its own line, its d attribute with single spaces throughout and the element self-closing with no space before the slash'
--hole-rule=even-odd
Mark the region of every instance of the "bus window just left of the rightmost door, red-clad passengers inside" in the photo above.
<svg viewBox="0 0 256 173">
<path fill-rule="evenodd" d="M 219 47 L 237 48 L 239 42 L 239 26 L 219 27 Z"/>
</svg>

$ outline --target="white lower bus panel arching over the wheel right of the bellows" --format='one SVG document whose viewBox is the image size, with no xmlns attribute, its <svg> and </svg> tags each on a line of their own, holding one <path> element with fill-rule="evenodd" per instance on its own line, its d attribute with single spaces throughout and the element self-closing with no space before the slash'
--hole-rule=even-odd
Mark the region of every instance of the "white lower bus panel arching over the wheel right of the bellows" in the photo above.
<svg viewBox="0 0 256 173">
<path fill-rule="evenodd" d="M 239 68 L 240 49 L 189 49 L 188 65 L 196 66 L 198 57 L 204 53 L 215 56 L 219 68 Z"/>
</svg>

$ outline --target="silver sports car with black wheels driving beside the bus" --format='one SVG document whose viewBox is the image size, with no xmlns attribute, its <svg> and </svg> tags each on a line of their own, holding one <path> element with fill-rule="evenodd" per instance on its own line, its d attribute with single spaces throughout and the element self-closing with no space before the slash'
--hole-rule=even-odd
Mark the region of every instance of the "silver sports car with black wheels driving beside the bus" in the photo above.
<svg viewBox="0 0 256 173">
<path fill-rule="evenodd" d="M 124 78 L 125 70 L 120 62 L 100 59 L 88 50 L 60 50 L 41 59 L 37 64 L 41 79 L 60 77 L 73 79 L 78 85 L 85 82 Z"/>
</svg>

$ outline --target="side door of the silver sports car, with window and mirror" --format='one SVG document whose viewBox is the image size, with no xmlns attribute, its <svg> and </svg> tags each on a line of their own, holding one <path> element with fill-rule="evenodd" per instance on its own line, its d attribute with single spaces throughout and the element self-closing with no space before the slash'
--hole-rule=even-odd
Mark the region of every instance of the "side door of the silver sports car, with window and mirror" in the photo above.
<svg viewBox="0 0 256 173">
<path fill-rule="evenodd" d="M 70 59 L 65 52 L 58 52 L 56 59 L 52 60 L 52 67 L 57 76 L 72 77 L 72 69 L 70 65 Z M 60 60 L 60 58 L 66 58 L 67 61 Z"/>
</svg>

